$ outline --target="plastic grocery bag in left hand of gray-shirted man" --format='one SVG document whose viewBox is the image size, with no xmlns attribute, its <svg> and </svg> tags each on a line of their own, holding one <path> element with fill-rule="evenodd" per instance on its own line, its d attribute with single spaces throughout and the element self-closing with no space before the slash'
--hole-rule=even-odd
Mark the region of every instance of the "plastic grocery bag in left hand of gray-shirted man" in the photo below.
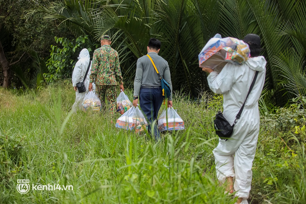
<svg viewBox="0 0 306 204">
<path fill-rule="evenodd" d="M 140 109 L 132 106 L 132 108 L 118 118 L 116 127 L 125 130 L 135 130 L 136 133 L 139 133 L 147 130 L 148 123 Z"/>
</svg>

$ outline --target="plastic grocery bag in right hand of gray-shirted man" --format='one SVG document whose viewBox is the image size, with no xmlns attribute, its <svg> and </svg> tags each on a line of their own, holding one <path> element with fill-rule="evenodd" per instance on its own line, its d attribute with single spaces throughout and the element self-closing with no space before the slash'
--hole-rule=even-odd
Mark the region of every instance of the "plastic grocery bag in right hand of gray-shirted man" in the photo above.
<svg viewBox="0 0 306 204">
<path fill-rule="evenodd" d="M 159 116 L 158 129 L 161 132 L 166 130 L 184 130 L 185 125 L 183 119 L 170 107 L 167 108 L 167 112 L 163 110 L 162 115 Z"/>
</svg>

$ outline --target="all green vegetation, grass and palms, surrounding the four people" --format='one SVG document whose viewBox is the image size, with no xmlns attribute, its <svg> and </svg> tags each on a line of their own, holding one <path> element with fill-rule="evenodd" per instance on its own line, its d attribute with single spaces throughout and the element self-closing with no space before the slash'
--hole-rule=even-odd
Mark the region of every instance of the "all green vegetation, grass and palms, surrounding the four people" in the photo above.
<svg viewBox="0 0 306 204">
<path fill-rule="evenodd" d="M 16 87 L 0 89 L 0 203 L 234 203 L 212 154 L 222 96 L 205 92 L 197 59 L 216 33 L 258 34 L 267 59 L 249 202 L 306 203 L 305 12 L 304 0 L 0 0 L 0 85 Z M 136 60 L 151 37 L 162 41 L 185 131 L 155 143 L 116 129 L 118 114 L 69 112 L 71 81 L 57 81 L 103 34 L 130 98 Z M 22 195 L 17 179 L 73 191 Z"/>
</svg>

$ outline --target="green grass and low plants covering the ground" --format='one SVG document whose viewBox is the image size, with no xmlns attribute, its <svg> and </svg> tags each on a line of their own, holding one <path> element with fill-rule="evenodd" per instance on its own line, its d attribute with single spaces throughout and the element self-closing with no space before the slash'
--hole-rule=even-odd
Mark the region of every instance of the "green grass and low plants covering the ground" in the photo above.
<svg viewBox="0 0 306 204">
<path fill-rule="evenodd" d="M 194 102 L 175 93 L 186 130 L 155 143 L 116 129 L 110 121 L 118 114 L 69 113 L 70 81 L 39 92 L 0 89 L 0 203 L 233 204 L 218 185 L 212 154 L 222 96 L 202 95 Z M 249 202 L 305 203 L 306 111 L 296 103 L 277 114 L 261 112 Z M 17 192 L 17 179 L 30 179 L 27 194 Z M 73 191 L 32 191 L 32 183 L 73 185 Z"/>
</svg>

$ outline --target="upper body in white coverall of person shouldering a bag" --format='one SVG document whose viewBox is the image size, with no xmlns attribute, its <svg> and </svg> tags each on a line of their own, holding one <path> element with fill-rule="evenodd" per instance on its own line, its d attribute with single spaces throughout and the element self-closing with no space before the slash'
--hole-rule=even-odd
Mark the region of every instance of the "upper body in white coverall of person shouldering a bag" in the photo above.
<svg viewBox="0 0 306 204">
<path fill-rule="evenodd" d="M 227 63 L 219 74 L 219 78 L 224 78 L 220 82 L 222 84 L 216 82 L 210 84 L 213 92 L 223 94 L 223 116 L 230 124 L 234 123 L 236 115 L 246 99 L 256 71 L 259 71 L 259 73 L 252 92 L 245 102 L 241 118 L 245 117 L 246 114 L 252 114 L 259 120 L 258 100 L 266 76 L 266 63 L 263 56 L 250 58 L 243 65 Z M 255 110 L 250 110 L 254 108 Z"/>
</svg>

